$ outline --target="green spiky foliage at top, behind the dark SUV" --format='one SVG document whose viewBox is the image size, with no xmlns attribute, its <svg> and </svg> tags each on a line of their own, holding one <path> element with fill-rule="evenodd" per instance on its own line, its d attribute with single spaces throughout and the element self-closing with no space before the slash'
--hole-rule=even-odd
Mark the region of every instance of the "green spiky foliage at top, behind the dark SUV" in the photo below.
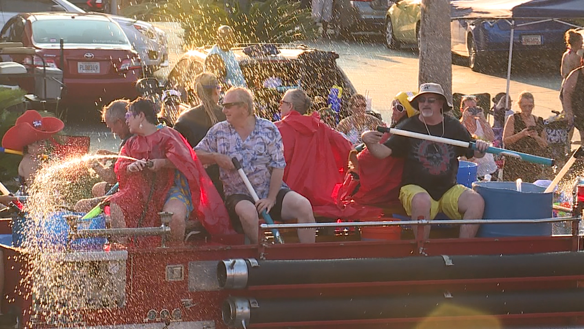
<svg viewBox="0 0 584 329">
<path fill-rule="evenodd" d="M 165 18 L 181 22 L 187 46 L 215 43 L 217 28 L 234 28 L 241 43 L 288 43 L 310 39 L 317 28 L 308 9 L 289 0 L 175 0 L 130 6 L 124 15 L 139 19 Z"/>
</svg>

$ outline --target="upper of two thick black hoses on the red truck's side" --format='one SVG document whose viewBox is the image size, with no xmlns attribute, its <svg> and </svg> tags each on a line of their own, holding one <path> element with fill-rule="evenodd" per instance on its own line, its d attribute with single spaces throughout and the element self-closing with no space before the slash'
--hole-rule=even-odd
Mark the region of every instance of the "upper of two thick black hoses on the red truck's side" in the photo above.
<svg viewBox="0 0 584 329">
<path fill-rule="evenodd" d="M 447 265 L 449 260 L 452 265 Z M 217 265 L 217 279 L 220 286 L 225 289 L 311 283 L 567 275 L 584 275 L 584 253 L 258 262 L 248 259 L 230 259 L 221 261 Z"/>
</svg>

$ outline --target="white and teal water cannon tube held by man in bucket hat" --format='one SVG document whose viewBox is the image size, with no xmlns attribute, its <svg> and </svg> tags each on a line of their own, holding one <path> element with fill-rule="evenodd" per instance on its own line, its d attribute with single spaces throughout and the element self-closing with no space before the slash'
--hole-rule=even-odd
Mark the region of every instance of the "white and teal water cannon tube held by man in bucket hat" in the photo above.
<svg viewBox="0 0 584 329">
<path fill-rule="evenodd" d="M 425 133 L 418 133 L 418 132 L 406 131 L 406 130 L 395 129 L 395 128 L 387 128 L 384 126 L 377 126 L 377 131 L 384 132 L 384 133 L 388 132 L 388 133 L 392 133 L 393 135 L 400 135 L 400 136 L 406 136 L 406 137 L 417 138 L 417 139 L 425 139 L 425 140 L 430 140 L 430 142 L 443 143 L 443 144 L 448 144 L 448 145 L 453 145 L 453 146 L 460 146 L 461 148 L 469 148 L 469 149 L 477 150 L 477 145 L 474 142 L 464 142 L 463 140 L 426 135 Z M 486 149 L 486 152 L 492 153 L 492 154 L 512 156 L 512 157 L 515 157 L 517 159 L 521 159 L 521 160 L 526 161 L 526 162 L 537 163 L 539 165 L 545 165 L 545 166 L 553 166 L 555 163 L 554 159 L 550 159 L 547 157 L 531 155 L 531 154 L 517 152 L 517 151 L 513 151 L 513 150 L 493 148 L 493 146 L 489 146 L 489 148 Z"/>
</svg>

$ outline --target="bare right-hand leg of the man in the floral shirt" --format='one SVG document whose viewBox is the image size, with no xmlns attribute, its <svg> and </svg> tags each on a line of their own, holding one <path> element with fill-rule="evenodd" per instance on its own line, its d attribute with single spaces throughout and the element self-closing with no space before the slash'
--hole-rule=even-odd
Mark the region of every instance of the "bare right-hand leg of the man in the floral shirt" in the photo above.
<svg viewBox="0 0 584 329">
<path fill-rule="evenodd" d="M 290 191 L 284 196 L 281 217 L 286 222 L 294 220 L 298 223 L 315 222 L 310 201 L 294 191 Z M 315 229 L 299 228 L 298 240 L 303 244 L 314 244 L 316 241 Z"/>
</svg>

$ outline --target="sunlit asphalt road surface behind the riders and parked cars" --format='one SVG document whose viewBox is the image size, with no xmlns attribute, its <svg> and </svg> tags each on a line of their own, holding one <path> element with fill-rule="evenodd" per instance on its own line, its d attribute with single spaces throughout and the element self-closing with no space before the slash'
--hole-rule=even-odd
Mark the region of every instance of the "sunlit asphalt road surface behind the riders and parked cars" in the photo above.
<svg viewBox="0 0 584 329">
<path fill-rule="evenodd" d="M 159 23 L 158 26 L 169 36 L 171 66 L 157 72 L 165 78 L 179 54 L 185 49 L 180 41 L 180 29 L 172 23 Z M 307 46 L 333 50 L 339 54 L 338 64 L 353 82 L 357 91 L 372 98 L 372 107 L 381 112 L 386 120 L 390 118 L 390 104 L 399 91 L 418 89 L 418 54 L 411 49 L 390 50 L 383 44 L 383 37 L 359 36 L 356 40 L 317 40 L 305 43 Z M 489 92 L 491 97 L 505 91 L 506 71 L 500 68 L 492 74 L 475 73 L 470 68 L 453 65 L 453 91 L 463 94 Z M 522 91 L 530 91 L 536 100 L 534 114 L 547 118 L 552 110 L 561 110 L 558 99 L 561 77 L 553 63 L 538 66 L 534 63 L 514 66 L 510 93 L 512 99 Z M 458 104 L 454 104 L 458 106 Z M 516 105 L 514 109 L 519 111 Z M 70 135 L 91 136 L 91 149 L 116 150 L 119 140 L 104 124 L 84 121 L 68 122 L 66 133 Z M 579 140 L 578 133 L 574 136 Z"/>
</svg>

